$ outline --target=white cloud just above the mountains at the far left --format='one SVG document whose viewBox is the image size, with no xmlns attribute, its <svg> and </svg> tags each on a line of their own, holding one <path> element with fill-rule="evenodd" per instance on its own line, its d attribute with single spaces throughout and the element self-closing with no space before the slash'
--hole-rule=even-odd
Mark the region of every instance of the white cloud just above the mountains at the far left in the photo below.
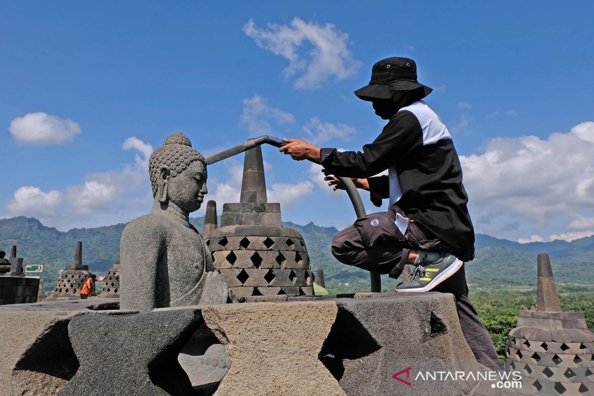
<svg viewBox="0 0 594 396">
<path fill-rule="evenodd" d="M 63 203 L 64 196 L 59 191 L 43 192 L 34 186 L 23 186 L 14 192 L 7 211 L 11 216 L 33 216 L 45 220 L 56 217 Z"/>
</svg>

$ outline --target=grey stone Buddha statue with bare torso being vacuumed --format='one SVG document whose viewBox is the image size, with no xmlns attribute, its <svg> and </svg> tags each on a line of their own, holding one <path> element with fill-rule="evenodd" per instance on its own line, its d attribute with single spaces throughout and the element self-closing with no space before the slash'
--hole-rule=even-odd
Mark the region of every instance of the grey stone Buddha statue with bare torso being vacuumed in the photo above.
<svg viewBox="0 0 594 396">
<path fill-rule="evenodd" d="M 151 154 L 149 173 L 153 208 L 132 220 L 120 241 L 120 308 L 197 305 L 213 263 L 188 216 L 208 192 L 206 161 L 176 132 Z"/>
</svg>

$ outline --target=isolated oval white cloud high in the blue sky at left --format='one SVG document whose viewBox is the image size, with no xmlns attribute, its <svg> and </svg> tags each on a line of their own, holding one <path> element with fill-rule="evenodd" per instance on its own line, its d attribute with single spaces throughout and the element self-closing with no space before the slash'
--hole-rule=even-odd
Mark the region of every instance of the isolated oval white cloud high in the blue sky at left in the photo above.
<svg viewBox="0 0 594 396">
<path fill-rule="evenodd" d="M 13 119 L 8 130 L 16 141 L 31 145 L 64 144 L 81 133 L 77 122 L 43 112 Z"/>
</svg>

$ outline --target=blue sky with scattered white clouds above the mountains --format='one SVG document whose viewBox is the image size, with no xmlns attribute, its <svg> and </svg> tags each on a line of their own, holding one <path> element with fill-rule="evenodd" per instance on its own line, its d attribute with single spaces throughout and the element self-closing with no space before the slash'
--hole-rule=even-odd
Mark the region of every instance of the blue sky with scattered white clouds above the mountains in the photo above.
<svg viewBox="0 0 594 396">
<path fill-rule="evenodd" d="M 453 134 L 477 232 L 592 235 L 593 11 L 552 1 L 2 2 L 0 216 L 63 230 L 141 216 L 152 199 L 146 155 L 175 131 L 205 155 L 263 134 L 358 150 L 384 123 L 352 91 L 376 61 L 409 56 Z M 283 220 L 353 220 L 312 164 L 263 150 Z M 207 199 L 238 200 L 241 163 L 210 167 Z"/>
</svg>

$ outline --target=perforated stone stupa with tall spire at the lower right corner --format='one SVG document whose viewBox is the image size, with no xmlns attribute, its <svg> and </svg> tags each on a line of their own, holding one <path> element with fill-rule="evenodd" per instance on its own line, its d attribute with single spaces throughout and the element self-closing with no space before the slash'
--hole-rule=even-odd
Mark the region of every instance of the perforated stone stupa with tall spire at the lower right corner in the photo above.
<svg viewBox="0 0 594 396">
<path fill-rule="evenodd" d="M 549 256 L 538 255 L 538 310 L 520 311 L 505 365 L 522 373 L 522 393 L 594 394 L 594 333 L 581 312 L 563 312 Z"/>
</svg>

